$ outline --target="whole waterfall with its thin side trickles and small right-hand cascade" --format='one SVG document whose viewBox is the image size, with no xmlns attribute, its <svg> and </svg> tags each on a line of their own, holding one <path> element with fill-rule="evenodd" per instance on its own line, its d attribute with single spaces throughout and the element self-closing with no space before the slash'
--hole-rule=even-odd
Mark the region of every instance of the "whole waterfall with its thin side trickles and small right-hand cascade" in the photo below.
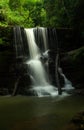
<svg viewBox="0 0 84 130">
<path fill-rule="evenodd" d="M 24 85 L 25 88 L 28 87 L 27 92 L 29 94 L 34 93 L 39 97 L 56 96 L 61 94 L 61 90 L 70 91 L 74 89 L 72 83 L 63 74 L 62 69 L 58 68 L 58 40 L 55 28 L 24 29 L 14 27 L 13 31 L 16 62 L 19 66 L 22 66 L 22 68 L 19 68 L 18 65 L 15 66 L 17 81 L 13 94 L 16 93 L 21 80 L 25 83 L 22 78 L 25 75 L 30 81 L 29 86 Z M 64 79 L 63 88 L 60 86 L 58 73 Z"/>
</svg>

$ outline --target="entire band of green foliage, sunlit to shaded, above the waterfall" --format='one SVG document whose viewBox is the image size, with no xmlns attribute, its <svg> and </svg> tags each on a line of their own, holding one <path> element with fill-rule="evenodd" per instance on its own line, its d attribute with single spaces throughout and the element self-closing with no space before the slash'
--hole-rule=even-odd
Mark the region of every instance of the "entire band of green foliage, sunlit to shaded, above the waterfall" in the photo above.
<svg viewBox="0 0 84 130">
<path fill-rule="evenodd" d="M 84 27 L 84 0 L 0 0 L 0 25 Z"/>
</svg>

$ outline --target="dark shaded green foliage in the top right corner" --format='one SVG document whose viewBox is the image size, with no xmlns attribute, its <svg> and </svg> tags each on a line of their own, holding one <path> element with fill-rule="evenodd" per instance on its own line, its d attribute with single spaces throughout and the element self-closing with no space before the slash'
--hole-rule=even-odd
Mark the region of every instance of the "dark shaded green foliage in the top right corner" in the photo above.
<svg viewBox="0 0 84 130">
<path fill-rule="evenodd" d="M 84 27 L 84 0 L 44 0 L 44 6 L 48 26 Z"/>
</svg>

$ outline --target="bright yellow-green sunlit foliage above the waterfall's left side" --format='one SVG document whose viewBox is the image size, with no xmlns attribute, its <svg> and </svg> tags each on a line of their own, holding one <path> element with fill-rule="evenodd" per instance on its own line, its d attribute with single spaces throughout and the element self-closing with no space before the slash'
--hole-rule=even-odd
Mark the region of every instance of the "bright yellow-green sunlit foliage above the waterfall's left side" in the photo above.
<svg viewBox="0 0 84 130">
<path fill-rule="evenodd" d="M 42 26 L 45 17 L 41 0 L 2 0 L 0 4 L 1 26 Z"/>
</svg>

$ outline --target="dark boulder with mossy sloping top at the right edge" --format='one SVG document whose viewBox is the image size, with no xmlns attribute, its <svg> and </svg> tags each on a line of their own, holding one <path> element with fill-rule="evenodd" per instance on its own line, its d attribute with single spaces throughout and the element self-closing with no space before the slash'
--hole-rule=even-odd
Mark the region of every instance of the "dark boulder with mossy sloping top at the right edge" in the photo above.
<svg viewBox="0 0 84 130">
<path fill-rule="evenodd" d="M 84 46 L 61 54 L 61 66 L 75 88 L 84 88 Z"/>
</svg>

